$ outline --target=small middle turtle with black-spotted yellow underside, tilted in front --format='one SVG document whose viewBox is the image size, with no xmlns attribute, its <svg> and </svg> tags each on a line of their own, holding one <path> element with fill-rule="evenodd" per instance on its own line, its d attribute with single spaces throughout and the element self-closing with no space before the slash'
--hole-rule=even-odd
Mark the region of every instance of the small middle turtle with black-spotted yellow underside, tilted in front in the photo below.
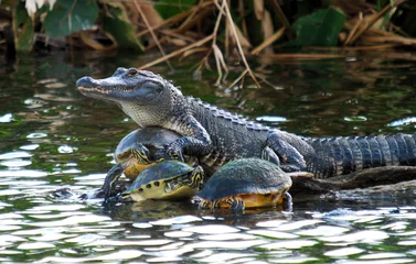
<svg viewBox="0 0 416 264">
<path fill-rule="evenodd" d="M 185 199 L 201 189 L 203 178 L 203 169 L 199 165 L 192 167 L 179 161 L 163 161 L 141 172 L 121 198 L 134 201 Z"/>
</svg>

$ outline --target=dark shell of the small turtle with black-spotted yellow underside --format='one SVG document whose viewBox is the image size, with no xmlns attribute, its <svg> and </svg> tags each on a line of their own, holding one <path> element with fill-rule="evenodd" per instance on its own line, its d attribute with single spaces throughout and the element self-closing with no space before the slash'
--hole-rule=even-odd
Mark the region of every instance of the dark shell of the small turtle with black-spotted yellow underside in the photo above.
<svg viewBox="0 0 416 264">
<path fill-rule="evenodd" d="M 125 193 L 129 194 L 139 188 L 149 188 L 147 185 L 150 183 L 171 179 L 193 170 L 194 168 L 186 163 L 178 161 L 164 161 L 157 163 L 141 172 L 140 176 L 136 178 L 136 180 Z"/>
</svg>

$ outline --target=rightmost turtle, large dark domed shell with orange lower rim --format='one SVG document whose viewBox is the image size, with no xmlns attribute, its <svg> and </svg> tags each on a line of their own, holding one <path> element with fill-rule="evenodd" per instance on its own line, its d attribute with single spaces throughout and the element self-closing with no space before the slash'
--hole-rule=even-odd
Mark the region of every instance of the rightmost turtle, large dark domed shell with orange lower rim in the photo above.
<svg viewBox="0 0 416 264">
<path fill-rule="evenodd" d="M 301 174 L 301 173 L 295 173 Z M 200 209 L 245 208 L 291 205 L 290 174 L 262 158 L 239 158 L 222 166 L 196 194 Z"/>
</svg>

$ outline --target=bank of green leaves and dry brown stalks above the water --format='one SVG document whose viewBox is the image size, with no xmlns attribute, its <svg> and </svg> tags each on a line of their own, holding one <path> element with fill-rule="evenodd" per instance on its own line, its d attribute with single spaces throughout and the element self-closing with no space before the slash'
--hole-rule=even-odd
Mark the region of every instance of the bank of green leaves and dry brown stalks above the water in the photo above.
<svg viewBox="0 0 416 264">
<path fill-rule="evenodd" d="M 160 57 L 143 69 L 200 54 L 195 70 L 215 67 L 217 85 L 230 62 L 239 81 L 258 76 L 246 57 L 326 59 L 348 51 L 414 48 L 416 6 L 406 0 L 3 0 L 0 50 L 117 48 Z"/>
</svg>

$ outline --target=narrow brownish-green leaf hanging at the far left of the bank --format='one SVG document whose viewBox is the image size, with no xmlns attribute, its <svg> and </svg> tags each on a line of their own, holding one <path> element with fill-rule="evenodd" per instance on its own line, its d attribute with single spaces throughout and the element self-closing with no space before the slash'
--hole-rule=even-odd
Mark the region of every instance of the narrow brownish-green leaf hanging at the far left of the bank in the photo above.
<svg viewBox="0 0 416 264">
<path fill-rule="evenodd" d="M 24 2 L 13 9 L 14 46 L 17 51 L 30 52 L 34 44 L 33 21 L 29 16 Z"/>
</svg>

